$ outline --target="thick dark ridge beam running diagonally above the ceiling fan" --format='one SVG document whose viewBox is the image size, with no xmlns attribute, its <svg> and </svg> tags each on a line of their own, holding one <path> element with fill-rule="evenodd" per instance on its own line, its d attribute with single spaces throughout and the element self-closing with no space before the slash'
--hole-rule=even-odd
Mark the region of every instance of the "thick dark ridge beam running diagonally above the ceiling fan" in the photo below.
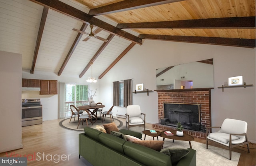
<svg viewBox="0 0 256 166">
<path fill-rule="evenodd" d="M 90 16 L 89 14 L 82 12 L 81 10 L 78 10 L 72 6 L 69 6 L 68 4 L 65 4 L 59 0 L 30 0 L 30 1 L 40 4 L 42 6 L 46 6 L 54 11 L 65 14 L 66 16 L 70 16 L 72 18 L 85 22 L 86 24 L 93 24 L 95 26 L 98 26 L 99 28 L 104 29 L 105 31 L 111 34 L 114 34 L 121 38 L 125 38 L 126 40 L 129 40 L 136 44 L 142 45 L 141 38 L 138 38 L 137 36 L 134 36 L 128 32 L 125 32 L 124 30 L 116 28 L 115 26 L 112 26 L 98 18 Z"/>
</svg>

